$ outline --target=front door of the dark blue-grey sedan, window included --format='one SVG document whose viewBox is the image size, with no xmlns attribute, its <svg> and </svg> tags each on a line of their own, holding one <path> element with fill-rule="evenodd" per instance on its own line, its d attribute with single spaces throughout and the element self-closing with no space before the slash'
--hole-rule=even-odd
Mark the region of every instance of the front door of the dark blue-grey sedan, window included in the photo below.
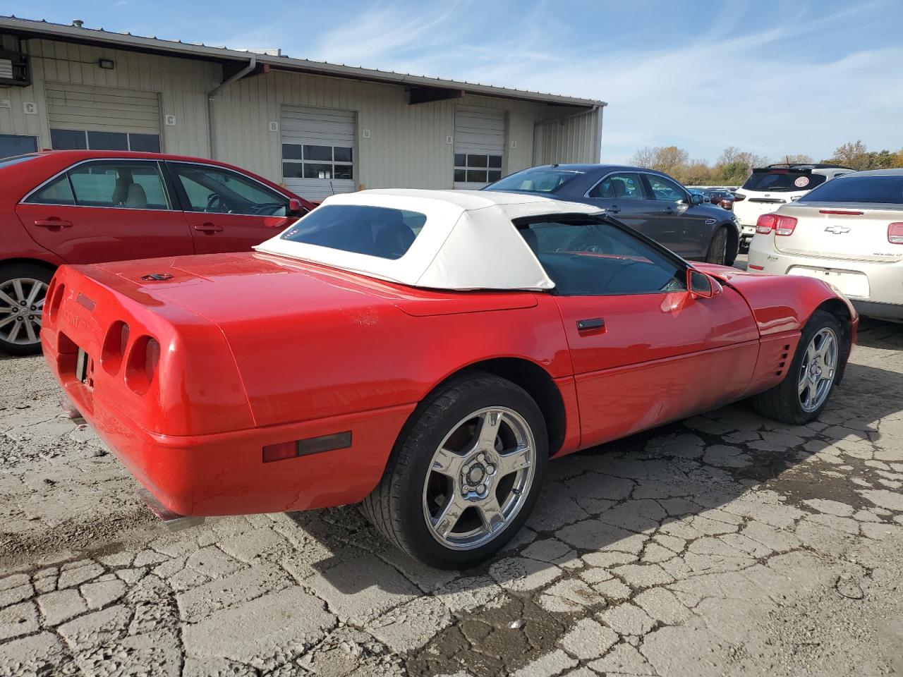
<svg viewBox="0 0 903 677">
<path fill-rule="evenodd" d="M 691 204 L 690 194 L 676 181 L 651 173 L 643 178 L 655 200 L 653 237 L 675 254 L 705 258 L 714 227 L 709 209 Z"/>
</svg>

